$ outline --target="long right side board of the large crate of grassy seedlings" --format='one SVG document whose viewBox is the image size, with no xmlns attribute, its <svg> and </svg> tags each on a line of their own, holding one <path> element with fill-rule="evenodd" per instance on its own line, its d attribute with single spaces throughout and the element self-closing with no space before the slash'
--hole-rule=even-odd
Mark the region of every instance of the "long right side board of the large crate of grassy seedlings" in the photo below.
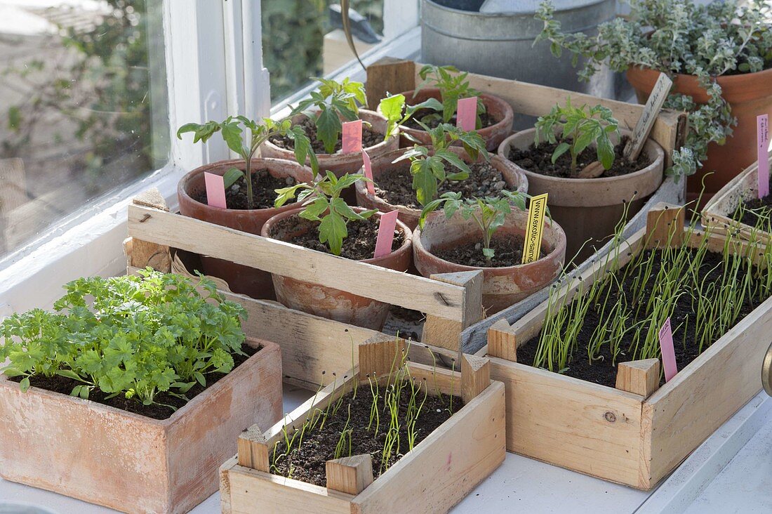
<svg viewBox="0 0 772 514">
<path fill-rule="evenodd" d="M 655 485 L 761 389 L 772 298 L 735 325 L 643 404 L 642 476 Z"/>
</svg>

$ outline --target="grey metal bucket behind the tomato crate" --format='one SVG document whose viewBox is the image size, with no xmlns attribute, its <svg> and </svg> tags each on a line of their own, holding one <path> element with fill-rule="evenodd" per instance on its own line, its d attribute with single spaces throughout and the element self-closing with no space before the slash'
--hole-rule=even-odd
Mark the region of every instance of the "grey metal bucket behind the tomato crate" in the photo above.
<svg viewBox="0 0 772 514">
<path fill-rule="evenodd" d="M 590 82 L 581 83 L 569 53 L 556 59 L 550 53 L 549 42 L 533 46 L 543 28 L 542 22 L 533 19 L 539 2 L 522 0 L 516 2 L 517 12 L 482 14 L 445 7 L 461 5 L 459 0 L 422 0 L 423 62 L 452 64 L 472 73 L 614 97 L 614 73 L 605 66 Z M 555 19 L 562 23 L 564 32 L 594 34 L 599 24 L 615 16 L 615 0 L 553 0 L 553 4 Z"/>
</svg>

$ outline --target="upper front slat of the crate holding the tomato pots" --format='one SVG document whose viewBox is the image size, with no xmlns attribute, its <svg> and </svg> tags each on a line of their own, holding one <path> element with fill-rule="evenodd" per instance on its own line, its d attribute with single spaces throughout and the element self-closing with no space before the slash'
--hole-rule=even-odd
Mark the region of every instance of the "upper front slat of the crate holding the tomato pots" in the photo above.
<svg viewBox="0 0 772 514">
<path fill-rule="evenodd" d="M 323 254 L 149 207 L 129 206 L 129 235 L 465 322 L 464 288 Z M 302 265 L 300 265 L 302 264 Z M 372 284 L 379 284 L 378 288 Z M 477 321 L 477 320 L 475 320 Z"/>
</svg>

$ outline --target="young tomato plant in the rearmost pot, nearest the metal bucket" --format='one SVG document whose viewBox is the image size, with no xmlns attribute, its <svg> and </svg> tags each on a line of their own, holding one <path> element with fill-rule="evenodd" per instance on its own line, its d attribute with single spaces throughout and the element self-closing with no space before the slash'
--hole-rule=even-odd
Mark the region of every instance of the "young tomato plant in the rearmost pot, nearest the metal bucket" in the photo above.
<svg viewBox="0 0 772 514">
<path fill-rule="evenodd" d="M 418 71 L 418 76 L 423 82 L 415 88 L 415 93 L 425 87 L 436 87 L 442 97 L 442 109 L 435 108 L 435 111 L 442 113 L 442 122 L 448 123 L 455 114 L 460 98 L 477 97 L 477 122 L 476 128 L 480 128 L 480 114 L 485 113 L 485 104 L 482 103 L 480 92 L 469 85 L 469 73 L 459 73 L 455 66 L 435 66 L 427 64 Z M 425 108 L 435 107 L 435 104 L 424 106 Z M 438 115 L 438 114 L 437 114 Z M 432 116 L 431 114 L 429 115 Z M 436 116 L 436 115 L 435 115 Z M 422 118 L 423 123 L 429 121 L 428 117 Z"/>
</svg>

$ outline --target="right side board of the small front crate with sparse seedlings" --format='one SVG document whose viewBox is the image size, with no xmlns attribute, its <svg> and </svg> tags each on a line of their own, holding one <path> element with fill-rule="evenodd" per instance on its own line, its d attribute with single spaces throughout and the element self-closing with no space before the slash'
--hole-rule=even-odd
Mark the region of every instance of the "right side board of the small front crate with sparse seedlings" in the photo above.
<svg viewBox="0 0 772 514">
<path fill-rule="evenodd" d="M 492 383 L 357 495 L 351 512 L 447 512 L 504 460 L 503 394 Z"/>
</svg>

